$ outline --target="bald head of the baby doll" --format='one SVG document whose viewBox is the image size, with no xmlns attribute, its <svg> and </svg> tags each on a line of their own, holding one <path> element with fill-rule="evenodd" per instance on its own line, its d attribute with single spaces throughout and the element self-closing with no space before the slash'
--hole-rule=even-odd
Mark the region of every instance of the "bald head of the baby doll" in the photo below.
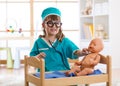
<svg viewBox="0 0 120 86">
<path fill-rule="evenodd" d="M 103 50 L 103 48 L 104 48 L 103 41 L 100 38 L 93 39 L 88 46 L 88 50 L 91 53 L 99 53 L 100 51 Z"/>
</svg>

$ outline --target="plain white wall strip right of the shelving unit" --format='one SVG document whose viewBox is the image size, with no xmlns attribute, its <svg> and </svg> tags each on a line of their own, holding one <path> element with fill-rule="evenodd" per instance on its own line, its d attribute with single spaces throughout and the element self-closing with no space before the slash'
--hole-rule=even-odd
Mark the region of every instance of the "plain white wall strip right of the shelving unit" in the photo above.
<svg viewBox="0 0 120 86">
<path fill-rule="evenodd" d="M 120 0 L 110 0 L 110 55 L 112 67 L 120 68 Z"/>
</svg>

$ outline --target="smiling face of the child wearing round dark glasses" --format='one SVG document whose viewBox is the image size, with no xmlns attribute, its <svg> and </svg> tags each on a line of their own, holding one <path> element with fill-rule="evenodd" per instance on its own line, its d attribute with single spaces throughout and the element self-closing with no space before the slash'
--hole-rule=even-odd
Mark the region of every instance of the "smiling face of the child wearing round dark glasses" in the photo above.
<svg viewBox="0 0 120 86">
<path fill-rule="evenodd" d="M 48 17 L 44 22 L 44 29 L 48 35 L 56 35 L 61 29 L 61 21 L 59 19 L 51 19 Z"/>
</svg>

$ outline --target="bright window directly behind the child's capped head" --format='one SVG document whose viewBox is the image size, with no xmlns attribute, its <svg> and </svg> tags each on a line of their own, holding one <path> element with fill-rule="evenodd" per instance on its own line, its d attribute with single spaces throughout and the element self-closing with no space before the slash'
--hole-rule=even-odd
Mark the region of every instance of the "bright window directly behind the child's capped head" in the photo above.
<svg viewBox="0 0 120 86">
<path fill-rule="evenodd" d="M 35 0 L 34 1 L 34 29 L 35 35 L 42 32 L 41 13 L 47 7 L 58 7 L 62 12 L 62 29 L 79 30 L 79 3 L 76 0 Z M 39 31 L 39 33 L 38 33 Z"/>
</svg>

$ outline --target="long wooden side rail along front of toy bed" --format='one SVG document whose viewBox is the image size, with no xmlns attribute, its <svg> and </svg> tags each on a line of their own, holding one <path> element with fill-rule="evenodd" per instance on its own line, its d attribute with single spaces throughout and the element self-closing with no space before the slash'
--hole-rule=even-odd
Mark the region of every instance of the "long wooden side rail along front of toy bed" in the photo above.
<svg viewBox="0 0 120 86">
<path fill-rule="evenodd" d="M 68 78 L 55 78 L 46 79 L 45 86 L 62 86 L 62 85 L 75 85 L 75 84 L 91 84 L 101 83 L 108 81 L 107 74 L 93 75 L 93 76 L 79 76 L 79 77 L 68 77 Z M 52 83 L 57 82 L 57 83 Z M 63 82 L 63 83 L 61 83 Z M 65 83 L 64 83 L 65 82 Z"/>
</svg>

